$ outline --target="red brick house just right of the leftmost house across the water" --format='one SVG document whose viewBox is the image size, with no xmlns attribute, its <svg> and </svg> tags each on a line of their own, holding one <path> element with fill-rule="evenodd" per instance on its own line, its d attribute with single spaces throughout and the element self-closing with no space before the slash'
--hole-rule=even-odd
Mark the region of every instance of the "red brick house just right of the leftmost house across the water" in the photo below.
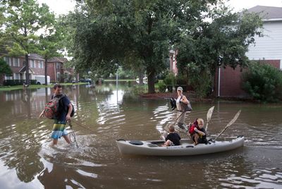
<svg viewBox="0 0 282 189">
<path fill-rule="evenodd" d="M 47 61 L 47 75 L 50 76 L 51 82 L 64 83 L 73 80 L 73 68 L 66 68 L 64 66 L 68 59 L 54 57 Z"/>
</svg>

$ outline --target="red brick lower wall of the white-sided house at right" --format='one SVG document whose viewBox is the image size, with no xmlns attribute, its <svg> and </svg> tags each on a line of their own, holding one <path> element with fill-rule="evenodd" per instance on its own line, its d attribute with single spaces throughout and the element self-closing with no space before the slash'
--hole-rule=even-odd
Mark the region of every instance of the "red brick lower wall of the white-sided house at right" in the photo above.
<svg viewBox="0 0 282 189">
<path fill-rule="evenodd" d="M 280 68 L 280 60 L 264 60 L 264 63 L 269 63 L 276 68 Z M 248 94 L 241 89 L 242 73 L 240 67 L 233 68 L 226 67 L 220 69 L 220 88 L 218 87 L 218 71 L 215 75 L 215 90 L 214 96 L 218 96 L 220 89 L 220 97 L 247 97 Z M 244 70 L 243 70 L 244 71 Z"/>
</svg>

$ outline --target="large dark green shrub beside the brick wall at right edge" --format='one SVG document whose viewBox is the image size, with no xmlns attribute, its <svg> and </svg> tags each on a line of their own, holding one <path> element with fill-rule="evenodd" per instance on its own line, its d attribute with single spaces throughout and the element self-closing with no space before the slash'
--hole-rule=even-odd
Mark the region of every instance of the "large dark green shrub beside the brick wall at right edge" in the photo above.
<svg viewBox="0 0 282 189">
<path fill-rule="evenodd" d="M 243 90 L 261 102 L 282 99 L 282 73 L 266 63 L 252 62 L 243 73 Z"/>
</svg>

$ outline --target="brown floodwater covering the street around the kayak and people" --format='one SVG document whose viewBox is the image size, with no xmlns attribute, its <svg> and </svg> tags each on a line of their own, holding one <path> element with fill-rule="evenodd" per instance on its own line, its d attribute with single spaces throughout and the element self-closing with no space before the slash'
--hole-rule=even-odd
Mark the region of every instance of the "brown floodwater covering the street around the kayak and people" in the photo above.
<svg viewBox="0 0 282 189">
<path fill-rule="evenodd" d="M 125 156 L 117 139 L 158 140 L 173 122 L 167 99 L 142 99 L 133 83 L 63 87 L 76 112 L 76 141 L 50 147 L 52 121 L 37 118 L 51 89 L 0 92 L 1 188 L 282 188 L 282 105 L 192 103 L 186 122 L 215 106 L 209 136 L 245 136 L 237 150 L 192 157 Z M 185 135 L 181 134 L 183 137 Z M 71 138 L 74 140 L 74 138 Z"/>
</svg>

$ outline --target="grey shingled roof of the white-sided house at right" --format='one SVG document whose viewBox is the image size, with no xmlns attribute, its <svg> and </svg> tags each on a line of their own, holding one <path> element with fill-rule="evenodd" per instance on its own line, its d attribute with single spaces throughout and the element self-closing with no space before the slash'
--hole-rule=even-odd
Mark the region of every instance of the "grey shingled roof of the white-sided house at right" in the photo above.
<svg viewBox="0 0 282 189">
<path fill-rule="evenodd" d="M 282 20 L 282 7 L 276 6 L 254 6 L 247 11 L 251 13 L 259 13 L 262 20 Z"/>
</svg>

